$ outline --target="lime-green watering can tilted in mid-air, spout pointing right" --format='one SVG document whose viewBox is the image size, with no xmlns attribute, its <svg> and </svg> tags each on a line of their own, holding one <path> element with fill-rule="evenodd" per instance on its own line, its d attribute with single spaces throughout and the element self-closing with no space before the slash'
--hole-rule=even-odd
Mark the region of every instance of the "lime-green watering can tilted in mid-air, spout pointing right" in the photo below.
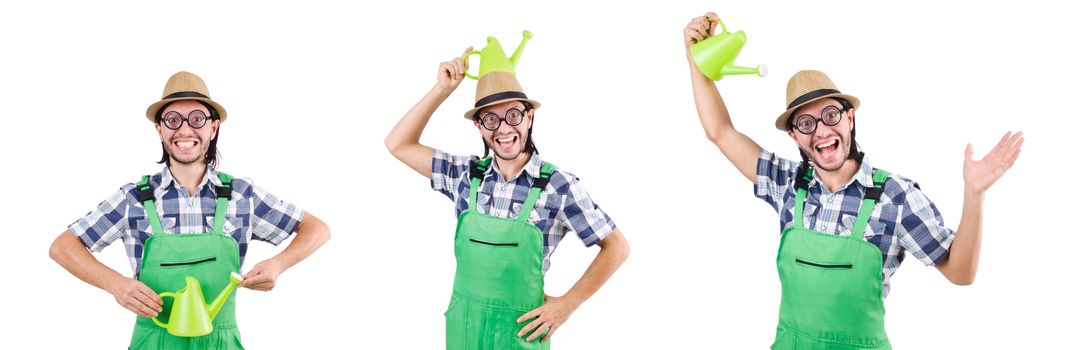
<svg viewBox="0 0 1065 350">
<path fill-rule="evenodd" d="M 723 76 L 758 74 L 758 77 L 766 77 L 769 73 L 766 65 L 758 65 L 755 68 L 734 66 L 732 63 L 739 55 L 739 50 L 743 49 L 747 34 L 743 31 L 730 33 L 725 29 L 725 22 L 720 19 L 710 19 L 710 21 L 721 24 L 721 34 L 691 46 L 691 59 L 706 78 L 721 80 Z"/>
</svg>

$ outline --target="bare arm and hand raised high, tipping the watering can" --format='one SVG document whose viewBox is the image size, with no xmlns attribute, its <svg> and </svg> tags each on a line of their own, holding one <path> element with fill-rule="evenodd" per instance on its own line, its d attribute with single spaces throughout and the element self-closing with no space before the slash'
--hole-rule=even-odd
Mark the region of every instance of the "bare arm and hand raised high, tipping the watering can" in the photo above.
<svg viewBox="0 0 1065 350">
<path fill-rule="evenodd" d="M 709 22 L 707 18 L 718 18 L 718 15 L 711 12 L 695 17 L 684 29 L 685 52 L 688 56 L 688 68 L 691 70 L 691 90 L 695 97 L 695 110 L 699 112 L 706 138 L 718 146 L 721 153 L 743 173 L 743 177 L 754 182 L 761 148 L 733 127 L 728 110 L 725 109 L 717 85 L 699 71 L 699 67 L 691 59 L 691 46 L 712 36 L 717 28 L 717 22 Z"/>
</svg>

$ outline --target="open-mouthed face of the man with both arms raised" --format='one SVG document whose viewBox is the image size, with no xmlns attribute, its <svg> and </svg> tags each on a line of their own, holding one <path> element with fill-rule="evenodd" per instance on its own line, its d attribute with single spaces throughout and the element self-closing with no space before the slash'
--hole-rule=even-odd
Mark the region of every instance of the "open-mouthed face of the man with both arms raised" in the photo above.
<svg viewBox="0 0 1065 350">
<path fill-rule="evenodd" d="M 817 121 L 817 130 L 810 134 L 803 134 L 798 129 L 788 130 L 788 135 L 796 140 L 796 145 L 802 149 L 806 156 L 814 161 L 818 168 L 828 171 L 838 170 L 843 166 L 851 150 L 851 130 L 854 128 L 854 110 L 842 111 L 842 105 L 833 99 L 821 99 L 806 104 L 796 111 L 791 117 L 794 124 L 800 116 L 808 114 L 817 119 L 821 118 L 821 112 L 828 106 L 835 106 L 842 112 L 839 123 L 825 126 L 824 122 Z"/>
</svg>

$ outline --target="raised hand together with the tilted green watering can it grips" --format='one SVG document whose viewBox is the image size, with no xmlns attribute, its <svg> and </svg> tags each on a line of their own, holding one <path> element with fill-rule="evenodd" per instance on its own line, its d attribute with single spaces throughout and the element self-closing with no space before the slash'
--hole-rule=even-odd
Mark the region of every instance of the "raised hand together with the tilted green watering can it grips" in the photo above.
<svg viewBox="0 0 1065 350">
<path fill-rule="evenodd" d="M 721 33 L 715 35 L 718 26 Z M 747 34 L 742 31 L 730 33 L 725 23 L 712 12 L 693 18 L 684 29 L 684 37 L 688 60 L 709 79 L 721 80 L 723 76 L 733 74 L 766 77 L 768 73 L 765 65 L 755 68 L 733 65 L 747 43 Z"/>
</svg>

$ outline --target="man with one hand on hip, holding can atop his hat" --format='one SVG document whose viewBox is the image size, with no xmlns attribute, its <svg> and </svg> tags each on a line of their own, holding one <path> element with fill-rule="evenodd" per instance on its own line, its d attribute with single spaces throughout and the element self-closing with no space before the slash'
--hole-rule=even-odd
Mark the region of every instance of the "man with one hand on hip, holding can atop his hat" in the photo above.
<svg viewBox="0 0 1065 350">
<path fill-rule="evenodd" d="M 447 349 L 547 349 L 551 336 L 625 261 L 628 244 L 576 177 L 540 160 L 531 135 L 540 103 L 526 97 L 512 71 L 481 71 L 477 102 L 465 114 L 480 132 L 486 157 L 420 144 L 429 117 L 464 71 L 462 59 L 441 63 L 436 86 L 384 143 L 430 178 L 459 214 Z M 551 254 L 571 231 L 600 252 L 566 295 L 545 296 Z"/>
</svg>

